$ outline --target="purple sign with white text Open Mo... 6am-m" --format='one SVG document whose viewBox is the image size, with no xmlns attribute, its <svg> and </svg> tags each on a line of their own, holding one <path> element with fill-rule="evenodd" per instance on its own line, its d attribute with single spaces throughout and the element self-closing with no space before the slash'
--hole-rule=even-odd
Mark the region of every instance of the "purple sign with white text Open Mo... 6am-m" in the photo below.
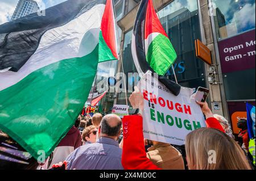
<svg viewBox="0 0 256 181">
<path fill-rule="evenodd" d="M 222 73 L 255 68 L 255 30 L 218 43 Z"/>
</svg>

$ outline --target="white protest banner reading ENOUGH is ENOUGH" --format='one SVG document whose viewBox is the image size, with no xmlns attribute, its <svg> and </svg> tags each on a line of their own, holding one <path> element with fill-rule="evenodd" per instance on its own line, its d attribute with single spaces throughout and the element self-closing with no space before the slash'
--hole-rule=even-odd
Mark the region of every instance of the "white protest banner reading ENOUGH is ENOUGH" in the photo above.
<svg viewBox="0 0 256 181">
<path fill-rule="evenodd" d="M 189 132 L 205 127 L 201 108 L 191 99 L 195 89 L 182 87 L 175 96 L 151 73 L 146 73 L 138 86 L 144 98 L 144 138 L 184 145 Z"/>
</svg>

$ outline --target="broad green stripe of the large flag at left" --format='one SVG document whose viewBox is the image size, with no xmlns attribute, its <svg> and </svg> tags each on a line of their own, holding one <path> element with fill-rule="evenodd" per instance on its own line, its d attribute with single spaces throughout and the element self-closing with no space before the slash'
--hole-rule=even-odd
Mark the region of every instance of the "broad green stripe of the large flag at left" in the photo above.
<svg viewBox="0 0 256 181">
<path fill-rule="evenodd" d="M 98 65 L 92 53 L 36 70 L 0 91 L 0 129 L 38 158 L 46 157 L 67 134 L 82 110 Z"/>
</svg>

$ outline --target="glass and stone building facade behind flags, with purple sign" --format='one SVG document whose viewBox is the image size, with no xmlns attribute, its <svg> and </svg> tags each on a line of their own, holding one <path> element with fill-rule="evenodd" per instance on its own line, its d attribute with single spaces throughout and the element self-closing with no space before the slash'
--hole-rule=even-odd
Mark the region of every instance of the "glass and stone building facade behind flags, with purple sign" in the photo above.
<svg viewBox="0 0 256 181">
<path fill-rule="evenodd" d="M 109 75 L 123 71 L 127 77 L 125 89 L 138 81 L 128 73 L 137 72 L 131 54 L 131 35 L 139 2 L 114 1 L 122 61 L 104 62 L 98 69 L 100 74 Z M 245 102 L 255 105 L 255 1 L 154 0 L 154 5 L 177 53 L 174 69 L 179 84 L 207 87 L 209 106 L 214 113 L 230 120 L 237 133 L 237 119 L 246 117 Z M 196 57 L 196 39 L 211 50 L 212 65 Z M 172 69 L 166 77 L 175 80 Z M 97 82 L 103 79 L 104 75 Z M 101 102 L 103 111 L 109 113 L 113 104 L 126 104 L 130 94 L 107 94 Z"/>
</svg>

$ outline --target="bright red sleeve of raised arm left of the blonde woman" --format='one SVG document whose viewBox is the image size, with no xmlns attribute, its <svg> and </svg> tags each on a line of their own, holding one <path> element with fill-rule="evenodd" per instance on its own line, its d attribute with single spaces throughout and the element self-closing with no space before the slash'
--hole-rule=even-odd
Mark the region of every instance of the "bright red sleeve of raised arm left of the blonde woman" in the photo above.
<svg viewBox="0 0 256 181">
<path fill-rule="evenodd" d="M 160 170 L 147 158 L 142 116 L 123 117 L 122 165 L 125 170 Z"/>
</svg>

